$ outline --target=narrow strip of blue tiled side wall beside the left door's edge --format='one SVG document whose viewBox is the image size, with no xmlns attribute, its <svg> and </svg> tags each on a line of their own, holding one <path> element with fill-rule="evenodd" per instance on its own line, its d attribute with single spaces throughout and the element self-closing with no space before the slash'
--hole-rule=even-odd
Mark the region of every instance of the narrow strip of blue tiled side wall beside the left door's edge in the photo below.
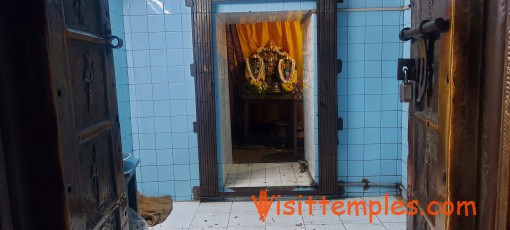
<svg viewBox="0 0 510 230">
<path fill-rule="evenodd" d="M 122 10 L 122 0 L 110 0 L 110 22 L 112 34 L 125 40 L 124 31 L 124 12 Z M 119 109 L 119 122 L 122 151 L 125 153 L 133 152 L 133 138 L 131 130 L 131 105 L 129 102 L 129 79 L 128 65 L 126 61 L 126 47 L 113 50 L 117 103 Z"/>
</svg>

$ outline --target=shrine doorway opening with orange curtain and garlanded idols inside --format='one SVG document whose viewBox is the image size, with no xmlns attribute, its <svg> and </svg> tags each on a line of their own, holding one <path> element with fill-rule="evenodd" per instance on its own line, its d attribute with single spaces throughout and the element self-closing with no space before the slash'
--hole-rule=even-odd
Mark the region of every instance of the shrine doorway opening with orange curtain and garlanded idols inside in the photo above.
<svg viewBox="0 0 510 230">
<path fill-rule="evenodd" d="M 317 181 L 315 18 L 311 11 L 215 14 L 218 169 L 225 191 Z M 259 60 L 263 80 L 252 70 Z M 291 71 L 280 80 L 285 62 Z"/>
</svg>

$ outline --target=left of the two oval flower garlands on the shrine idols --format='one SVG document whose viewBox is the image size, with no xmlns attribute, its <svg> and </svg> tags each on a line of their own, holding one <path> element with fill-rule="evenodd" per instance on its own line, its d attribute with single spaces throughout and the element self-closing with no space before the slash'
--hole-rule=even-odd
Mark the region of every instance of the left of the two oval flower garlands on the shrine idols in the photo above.
<svg viewBox="0 0 510 230">
<path fill-rule="evenodd" d="M 267 88 L 264 60 L 257 54 L 246 59 L 246 80 L 258 93 Z"/>
</svg>

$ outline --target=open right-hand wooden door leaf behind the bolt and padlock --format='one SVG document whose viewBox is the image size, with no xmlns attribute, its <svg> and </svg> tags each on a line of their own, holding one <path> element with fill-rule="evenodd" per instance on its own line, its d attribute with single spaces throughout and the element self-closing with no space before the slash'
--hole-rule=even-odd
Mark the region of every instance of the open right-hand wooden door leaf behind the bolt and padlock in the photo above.
<svg viewBox="0 0 510 230">
<path fill-rule="evenodd" d="M 450 19 L 449 1 L 414 0 L 411 3 L 412 27 L 417 27 L 423 20 L 434 20 L 438 17 Z M 427 52 L 430 56 L 432 75 L 427 83 L 427 90 L 421 102 L 416 100 L 409 107 L 409 159 L 408 159 L 408 199 L 418 200 L 420 212 L 424 215 L 408 217 L 408 229 L 444 229 L 445 216 L 430 216 L 427 205 L 431 201 L 444 202 L 447 198 L 446 181 L 443 180 L 446 171 L 446 146 L 442 141 L 445 137 L 444 104 L 448 93 L 442 91 L 441 79 L 444 79 L 444 69 L 449 64 L 448 47 L 449 34 L 444 33 L 433 42 L 424 38 L 412 41 L 411 58 L 418 60 L 420 68 L 425 68 Z M 427 47 L 432 49 L 427 51 Z M 415 85 L 416 86 L 416 85 Z M 418 89 L 415 88 L 416 92 Z"/>
</svg>

